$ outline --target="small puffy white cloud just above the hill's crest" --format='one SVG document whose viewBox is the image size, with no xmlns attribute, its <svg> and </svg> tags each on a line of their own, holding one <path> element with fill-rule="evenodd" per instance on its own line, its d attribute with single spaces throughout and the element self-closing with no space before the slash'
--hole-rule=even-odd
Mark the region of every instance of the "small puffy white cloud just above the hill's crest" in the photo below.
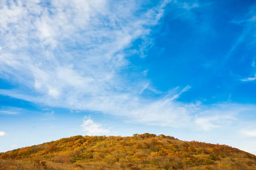
<svg viewBox="0 0 256 170">
<path fill-rule="evenodd" d="M 102 128 L 102 125 L 96 122 L 93 122 L 92 119 L 84 117 L 83 124 L 81 125 L 82 130 L 86 132 L 87 135 L 106 135 L 109 133 L 108 129 Z"/>
</svg>

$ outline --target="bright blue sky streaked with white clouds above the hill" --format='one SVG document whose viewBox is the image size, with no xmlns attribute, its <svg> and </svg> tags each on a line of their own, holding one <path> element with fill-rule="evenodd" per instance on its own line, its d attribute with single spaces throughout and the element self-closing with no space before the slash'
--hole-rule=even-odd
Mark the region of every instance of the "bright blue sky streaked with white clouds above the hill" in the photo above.
<svg viewBox="0 0 256 170">
<path fill-rule="evenodd" d="M 0 2 L 0 152 L 155 133 L 256 154 L 253 0 Z"/>
</svg>

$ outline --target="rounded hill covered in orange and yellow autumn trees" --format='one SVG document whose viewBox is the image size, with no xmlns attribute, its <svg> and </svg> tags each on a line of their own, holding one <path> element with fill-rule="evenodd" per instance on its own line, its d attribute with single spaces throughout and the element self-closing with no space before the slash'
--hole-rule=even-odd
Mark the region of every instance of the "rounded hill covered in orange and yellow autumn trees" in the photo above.
<svg viewBox="0 0 256 170">
<path fill-rule="evenodd" d="M 256 156 L 172 136 L 73 136 L 0 153 L 0 170 L 256 170 Z"/>
</svg>

